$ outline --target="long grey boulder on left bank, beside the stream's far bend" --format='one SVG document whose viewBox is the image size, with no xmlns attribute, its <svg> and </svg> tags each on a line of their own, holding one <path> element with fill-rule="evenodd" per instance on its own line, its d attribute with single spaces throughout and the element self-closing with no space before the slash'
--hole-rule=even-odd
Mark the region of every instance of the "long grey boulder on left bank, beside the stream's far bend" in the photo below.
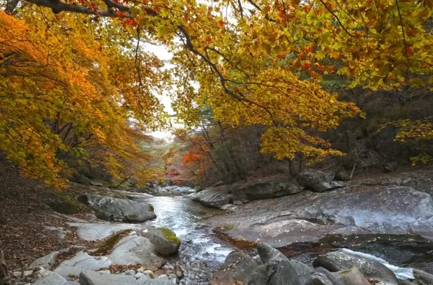
<svg viewBox="0 0 433 285">
<path fill-rule="evenodd" d="M 138 203 L 129 199 L 118 199 L 95 194 L 82 194 L 78 201 L 96 211 L 100 219 L 115 222 L 145 222 L 156 218 L 154 208 L 147 203 Z"/>
</svg>

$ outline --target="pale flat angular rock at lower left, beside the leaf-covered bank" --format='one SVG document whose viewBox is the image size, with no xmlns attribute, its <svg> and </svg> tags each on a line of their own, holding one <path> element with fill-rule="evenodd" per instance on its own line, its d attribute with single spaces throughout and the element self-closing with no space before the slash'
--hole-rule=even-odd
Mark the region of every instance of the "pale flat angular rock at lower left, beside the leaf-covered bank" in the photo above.
<svg viewBox="0 0 433 285">
<path fill-rule="evenodd" d="M 105 256 L 89 256 L 85 252 L 78 252 L 72 259 L 60 263 L 54 272 L 63 277 L 78 276 L 82 270 L 99 270 L 108 268 L 110 265 L 110 260 Z"/>
</svg>

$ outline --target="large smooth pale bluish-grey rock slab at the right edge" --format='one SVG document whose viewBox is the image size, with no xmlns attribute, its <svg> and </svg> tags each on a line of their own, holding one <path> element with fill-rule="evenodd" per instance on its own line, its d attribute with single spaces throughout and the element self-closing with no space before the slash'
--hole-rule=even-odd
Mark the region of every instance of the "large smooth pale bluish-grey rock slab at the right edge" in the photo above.
<svg viewBox="0 0 433 285">
<path fill-rule="evenodd" d="M 433 232 L 433 200 L 411 187 L 386 187 L 375 192 L 353 192 L 324 197 L 311 206 L 294 210 L 301 217 L 325 219 L 335 224 L 358 226 L 378 233 Z"/>
</svg>

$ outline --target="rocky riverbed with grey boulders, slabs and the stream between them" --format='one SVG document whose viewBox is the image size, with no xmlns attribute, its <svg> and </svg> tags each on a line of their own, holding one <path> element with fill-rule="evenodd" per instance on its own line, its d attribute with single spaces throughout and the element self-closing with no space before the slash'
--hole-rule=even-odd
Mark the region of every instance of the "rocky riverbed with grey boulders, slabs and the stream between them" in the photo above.
<svg viewBox="0 0 433 285">
<path fill-rule="evenodd" d="M 68 242 L 11 268 L 10 281 L 433 284 L 431 174 L 335 181 L 309 172 L 298 181 L 267 178 L 198 193 L 159 187 L 156 196 L 98 187 L 76 197 L 94 214 L 38 214 L 58 221 L 41 230 Z"/>
</svg>

